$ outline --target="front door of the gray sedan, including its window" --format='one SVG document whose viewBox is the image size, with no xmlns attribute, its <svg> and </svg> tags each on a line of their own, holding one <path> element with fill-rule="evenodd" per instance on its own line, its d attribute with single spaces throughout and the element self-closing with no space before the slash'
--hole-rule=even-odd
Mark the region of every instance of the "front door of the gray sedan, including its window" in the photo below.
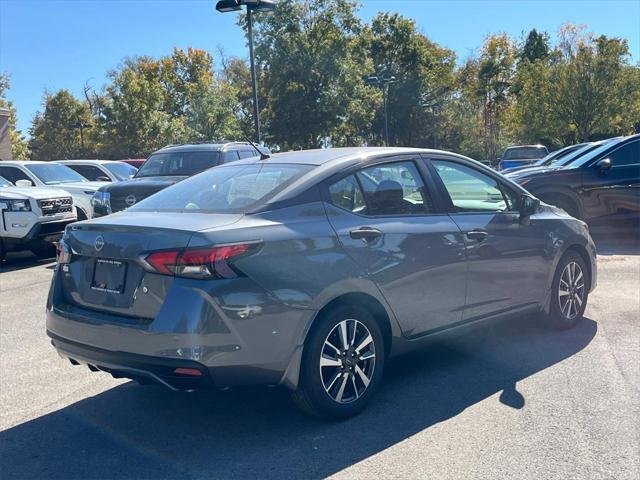
<svg viewBox="0 0 640 480">
<path fill-rule="evenodd" d="M 432 157 L 451 219 L 464 234 L 468 263 L 464 321 L 535 307 L 551 268 L 551 238 L 532 216 L 520 221 L 520 192 L 472 162 Z"/>
</svg>

